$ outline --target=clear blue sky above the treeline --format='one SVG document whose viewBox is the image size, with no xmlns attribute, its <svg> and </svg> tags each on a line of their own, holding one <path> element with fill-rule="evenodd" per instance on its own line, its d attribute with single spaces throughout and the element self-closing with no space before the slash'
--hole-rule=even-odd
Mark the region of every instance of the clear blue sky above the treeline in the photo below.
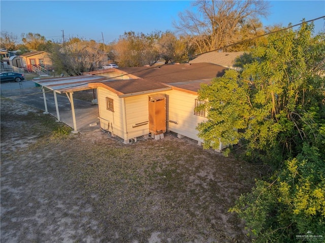
<svg viewBox="0 0 325 243">
<path fill-rule="evenodd" d="M 126 31 L 174 31 L 178 13 L 190 9 L 193 1 L 15 1 L 0 0 L 0 30 L 13 33 L 39 33 L 47 40 L 62 42 L 70 37 L 108 44 Z M 325 16 L 325 1 L 269 1 L 270 15 L 264 26 Z M 325 31 L 325 20 L 314 22 L 315 32 Z"/>
</svg>

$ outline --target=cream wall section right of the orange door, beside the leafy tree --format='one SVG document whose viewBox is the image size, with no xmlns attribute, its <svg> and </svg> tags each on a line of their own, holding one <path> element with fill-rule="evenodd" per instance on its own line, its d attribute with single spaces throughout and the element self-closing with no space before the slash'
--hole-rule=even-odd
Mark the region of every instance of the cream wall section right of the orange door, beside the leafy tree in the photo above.
<svg viewBox="0 0 325 243">
<path fill-rule="evenodd" d="M 168 116 L 167 129 L 186 136 L 188 138 L 203 142 L 198 137 L 196 127 L 207 118 L 194 115 L 195 99 L 197 95 L 172 90 L 168 92 Z M 172 123 L 175 121 L 177 124 Z"/>
</svg>

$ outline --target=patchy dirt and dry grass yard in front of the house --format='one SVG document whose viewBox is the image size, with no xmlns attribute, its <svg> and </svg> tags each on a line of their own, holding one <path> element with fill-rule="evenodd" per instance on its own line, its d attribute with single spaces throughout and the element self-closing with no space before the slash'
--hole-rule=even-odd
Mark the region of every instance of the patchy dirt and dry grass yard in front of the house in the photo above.
<svg viewBox="0 0 325 243">
<path fill-rule="evenodd" d="M 249 242 L 228 209 L 258 175 L 189 139 L 70 134 L 1 99 L 2 243 Z"/>
</svg>

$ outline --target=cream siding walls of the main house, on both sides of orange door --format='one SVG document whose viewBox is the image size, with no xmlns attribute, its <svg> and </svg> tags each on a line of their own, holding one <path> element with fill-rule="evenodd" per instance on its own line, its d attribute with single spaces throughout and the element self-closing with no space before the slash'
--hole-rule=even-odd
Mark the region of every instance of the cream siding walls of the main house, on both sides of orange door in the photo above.
<svg viewBox="0 0 325 243">
<path fill-rule="evenodd" d="M 206 117 L 194 115 L 195 99 L 197 95 L 171 90 L 159 92 L 166 94 L 167 98 L 167 129 L 203 142 L 198 137 L 196 127 L 206 120 Z M 106 97 L 114 100 L 114 112 L 106 109 Z M 116 94 L 98 88 L 101 127 L 124 140 L 140 137 L 149 133 L 148 121 L 148 94 L 118 98 Z M 123 102 L 125 99 L 125 105 Z M 126 116 L 123 117 L 124 109 Z M 177 124 L 171 122 L 174 121 Z M 139 126 L 140 125 L 140 126 Z"/>
</svg>

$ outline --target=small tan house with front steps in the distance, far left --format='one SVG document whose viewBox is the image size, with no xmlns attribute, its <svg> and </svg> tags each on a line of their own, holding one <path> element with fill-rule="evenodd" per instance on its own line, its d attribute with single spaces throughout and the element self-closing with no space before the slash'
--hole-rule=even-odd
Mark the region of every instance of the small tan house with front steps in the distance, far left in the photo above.
<svg viewBox="0 0 325 243">
<path fill-rule="evenodd" d="M 29 72 L 46 72 L 52 66 L 48 54 L 43 51 L 27 52 L 20 55 L 21 65 Z"/>
</svg>

